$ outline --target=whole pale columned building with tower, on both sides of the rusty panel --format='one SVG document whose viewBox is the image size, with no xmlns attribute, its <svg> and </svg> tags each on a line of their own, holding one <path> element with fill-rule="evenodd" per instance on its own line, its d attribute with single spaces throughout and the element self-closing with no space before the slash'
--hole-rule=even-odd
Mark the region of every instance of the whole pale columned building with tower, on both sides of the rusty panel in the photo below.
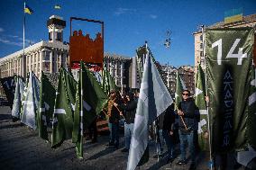
<svg viewBox="0 0 256 170">
<path fill-rule="evenodd" d="M 63 42 L 63 29 L 66 22 L 59 16 L 52 15 L 47 21 L 49 40 L 41 40 L 24 49 L 14 52 L 4 58 L 0 58 L 0 78 L 6 76 L 24 76 L 32 70 L 36 76 L 41 77 L 41 71 L 45 74 L 53 74 L 59 71 L 59 67 L 67 67 L 69 63 L 69 43 Z M 121 55 L 105 53 L 105 67 L 114 77 L 119 87 L 130 87 L 130 73 L 133 71 L 132 58 Z"/>
</svg>

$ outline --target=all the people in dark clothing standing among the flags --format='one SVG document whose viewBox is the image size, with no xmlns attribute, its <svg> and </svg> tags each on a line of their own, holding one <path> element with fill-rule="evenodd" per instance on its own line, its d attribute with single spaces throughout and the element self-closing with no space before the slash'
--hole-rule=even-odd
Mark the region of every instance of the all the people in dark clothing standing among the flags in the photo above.
<svg viewBox="0 0 256 170">
<path fill-rule="evenodd" d="M 109 101 L 106 107 L 106 118 L 110 131 L 110 139 L 107 147 L 119 148 L 119 130 L 120 120 L 124 119 L 124 148 L 122 152 L 129 152 L 133 125 L 136 114 L 136 108 L 139 98 L 139 92 L 127 92 L 123 95 L 118 91 L 111 90 Z M 208 98 L 206 98 L 206 102 Z M 179 143 L 180 156 L 177 165 L 186 165 L 189 162 L 187 157 L 187 149 L 190 154 L 190 168 L 196 169 L 197 157 L 197 125 L 199 121 L 199 112 L 197 105 L 190 97 L 188 90 L 183 90 L 182 101 L 180 103 L 171 103 L 169 108 L 160 114 L 159 118 L 150 126 L 150 138 L 156 141 L 156 157 L 163 157 L 163 144 L 167 146 L 167 163 L 171 164 L 178 156 L 175 152 L 175 146 Z M 93 123 L 93 131 L 96 130 L 96 122 Z M 96 136 L 89 133 L 93 141 Z M 206 136 L 206 138 L 208 138 Z M 95 139 L 95 140 L 94 140 Z M 221 165 L 220 169 L 226 166 Z"/>
</svg>

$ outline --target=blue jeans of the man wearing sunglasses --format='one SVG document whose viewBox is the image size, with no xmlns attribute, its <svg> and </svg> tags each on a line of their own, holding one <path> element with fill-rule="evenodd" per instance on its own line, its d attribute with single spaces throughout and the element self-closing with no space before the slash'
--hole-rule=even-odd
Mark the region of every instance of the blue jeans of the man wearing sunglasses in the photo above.
<svg viewBox="0 0 256 170">
<path fill-rule="evenodd" d="M 181 130 L 178 130 L 179 135 L 179 141 L 180 141 L 180 155 L 181 160 L 186 160 L 186 145 L 185 142 L 187 140 L 188 148 L 190 152 L 190 157 L 192 163 L 195 163 L 196 155 L 195 155 L 195 146 L 194 146 L 194 130 L 192 130 L 190 133 L 183 134 Z"/>
</svg>

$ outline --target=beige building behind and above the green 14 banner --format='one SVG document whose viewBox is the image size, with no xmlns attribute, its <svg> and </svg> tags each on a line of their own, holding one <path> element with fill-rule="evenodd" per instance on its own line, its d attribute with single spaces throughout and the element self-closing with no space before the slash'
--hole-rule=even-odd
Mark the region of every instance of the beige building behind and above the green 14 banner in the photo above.
<svg viewBox="0 0 256 170">
<path fill-rule="evenodd" d="M 256 13 L 248 16 L 243 16 L 240 22 L 231 22 L 225 24 L 224 22 L 217 22 L 213 25 L 206 26 L 208 29 L 215 28 L 237 28 L 237 27 L 253 27 L 256 28 Z M 194 32 L 195 38 L 195 74 L 197 74 L 197 66 L 201 64 L 201 67 L 205 67 L 205 57 L 204 57 L 204 45 L 202 31 Z M 255 47 L 255 46 L 254 46 Z M 254 61 L 256 60 L 256 48 L 253 52 Z"/>
</svg>

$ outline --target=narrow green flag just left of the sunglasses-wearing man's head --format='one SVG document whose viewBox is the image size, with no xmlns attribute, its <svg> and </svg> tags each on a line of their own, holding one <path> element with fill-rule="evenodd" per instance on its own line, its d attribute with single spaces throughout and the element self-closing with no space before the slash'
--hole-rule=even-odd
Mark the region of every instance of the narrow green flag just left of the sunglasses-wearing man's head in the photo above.
<svg viewBox="0 0 256 170">
<path fill-rule="evenodd" d="M 186 89 L 186 86 L 178 74 L 178 70 L 176 72 L 176 91 L 175 91 L 175 109 L 178 108 L 178 103 L 182 101 L 182 91 Z"/>
</svg>

